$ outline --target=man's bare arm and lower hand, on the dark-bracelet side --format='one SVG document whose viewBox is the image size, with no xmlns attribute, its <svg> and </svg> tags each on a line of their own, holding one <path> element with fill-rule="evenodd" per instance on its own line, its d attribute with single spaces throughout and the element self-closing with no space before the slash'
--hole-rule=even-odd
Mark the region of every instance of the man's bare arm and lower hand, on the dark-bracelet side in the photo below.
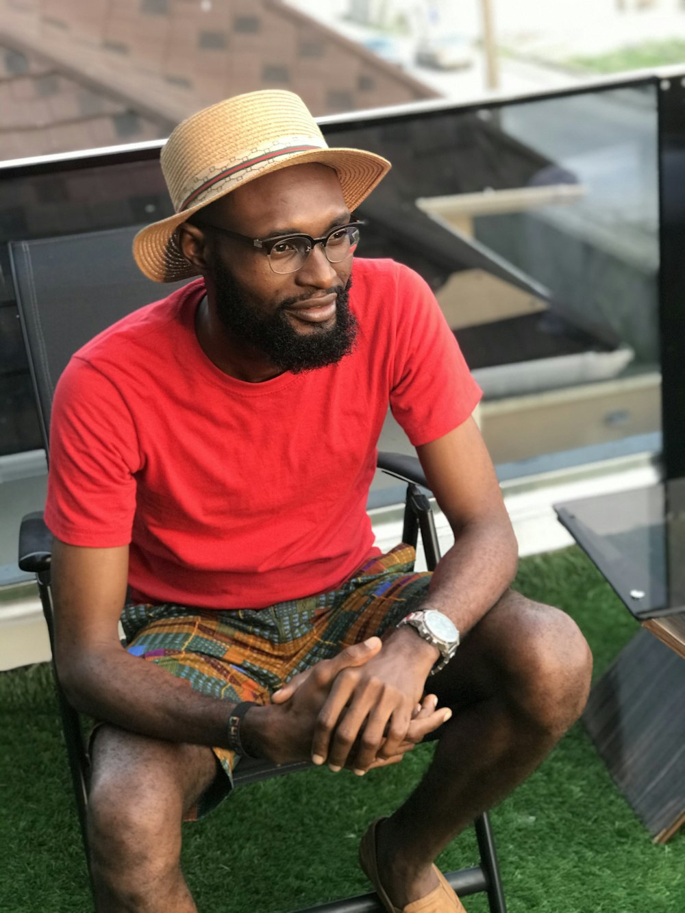
<svg viewBox="0 0 685 913">
<path fill-rule="evenodd" d="M 54 540 L 55 659 L 62 687 L 76 708 L 121 729 L 227 747 L 233 703 L 199 694 L 183 679 L 121 646 L 118 622 L 128 557 L 128 546 L 93 549 Z M 275 763 L 308 760 L 314 725 L 332 682 L 342 669 L 364 664 L 380 648 L 377 637 L 348 647 L 314 666 L 292 700 L 251 708 L 242 727 L 250 753 Z M 396 754 L 441 722 L 439 714 L 423 711 L 413 723 L 411 739 Z"/>
</svg>

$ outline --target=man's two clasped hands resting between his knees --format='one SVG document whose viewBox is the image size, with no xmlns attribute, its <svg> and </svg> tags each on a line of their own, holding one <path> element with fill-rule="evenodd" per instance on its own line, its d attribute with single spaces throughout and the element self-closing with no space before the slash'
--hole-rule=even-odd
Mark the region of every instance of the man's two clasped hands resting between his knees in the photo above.
<svg viewBox="0 0 685 913">
<path fill-rule="evenodd" d="M 451 716 L 435 695 L 422 699 L 428 670 L 370 637 L 299 673 L 261 708 L 269 760 L 311 759 L 359 775 L 401 761 Z"/>
</svg>

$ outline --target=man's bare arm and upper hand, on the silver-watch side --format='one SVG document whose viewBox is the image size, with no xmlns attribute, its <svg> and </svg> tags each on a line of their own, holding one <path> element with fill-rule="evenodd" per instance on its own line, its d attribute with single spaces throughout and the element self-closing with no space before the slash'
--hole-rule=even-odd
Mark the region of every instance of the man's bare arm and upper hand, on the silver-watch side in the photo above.
<svg viewBox="0 0 685 913">
<path fill-rule="evenodd" d="M 490 455 L 472 418 L 416 450 L 428 487 L 455 536 L 433 574 L 425 604 L 447 614 L 465 634 L 511 583 L 516 539 Z M 376 756 L 395 753 L 437 657 L 437 647 L 403 627 L 364 667 L 343 671 L 321 710 L 312 742 L 315 761 L 341 768 L 357 740 L 353 765 L 361 771 Z M 458 651 L 452 662 L 458 662 Z"/>
</svg>

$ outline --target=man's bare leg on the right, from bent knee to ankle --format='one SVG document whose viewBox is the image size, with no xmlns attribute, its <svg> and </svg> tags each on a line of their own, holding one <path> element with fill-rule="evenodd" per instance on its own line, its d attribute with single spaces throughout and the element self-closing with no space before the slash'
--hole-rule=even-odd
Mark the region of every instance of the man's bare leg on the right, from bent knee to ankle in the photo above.
<svg viewBox="0 0 685 913">
<path fill-rule="evenodd" d="M 416 791 L 377 829 L 378 869 L 396 907 L 437 887 L 437 854 L 525 780 L 578 719 L 591 669 L 568 615 L 510 591 L 428 680 L 454 715 Z"/>
</svg>

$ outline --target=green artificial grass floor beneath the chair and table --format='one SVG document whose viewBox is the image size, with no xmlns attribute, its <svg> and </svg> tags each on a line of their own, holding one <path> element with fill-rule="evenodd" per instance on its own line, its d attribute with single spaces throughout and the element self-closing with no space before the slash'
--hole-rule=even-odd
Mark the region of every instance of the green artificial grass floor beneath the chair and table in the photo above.
<svg viewBox="0 0 685 913">
<path fill-rule="evenodd" d="M 522 561 L 517 586 L 572 614 L 601 673 L 638 625 L 577 549 Z M 47 666 L 0 675 L 0 910 L 91 909 Z M 425 770 L 431 746 L 363 780 L 293 774 L 236 792 L 184 825 L 184 871 L 202 913 L 286 913 L 369 890 L 356 862 L 367 824 Z M 491 814 L 510 913 L 682 913 L 685 839 L 653 845 L 577 725 Z M 472 829 L 438 860 L 476 862 Z M 469 913 L 486 913 L 483 896 Z"/>
</svg>

